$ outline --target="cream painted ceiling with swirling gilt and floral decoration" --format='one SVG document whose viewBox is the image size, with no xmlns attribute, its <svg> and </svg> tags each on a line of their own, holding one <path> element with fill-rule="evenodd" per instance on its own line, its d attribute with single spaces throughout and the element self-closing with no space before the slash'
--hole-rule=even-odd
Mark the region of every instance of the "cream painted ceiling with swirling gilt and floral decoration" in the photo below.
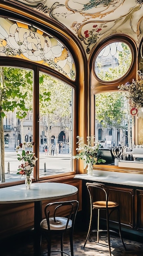
<svg viewBox="0 0 143 256">
<path fill-rule="evenodd" d="M 11 1 L 10 1 L 11 2 Z M 56 20 L 73 33 L 87 58 L 96 44 L 112 34 L 143 36 L 143 0 L 16 0 L 28 9 Z"/>
</svg>

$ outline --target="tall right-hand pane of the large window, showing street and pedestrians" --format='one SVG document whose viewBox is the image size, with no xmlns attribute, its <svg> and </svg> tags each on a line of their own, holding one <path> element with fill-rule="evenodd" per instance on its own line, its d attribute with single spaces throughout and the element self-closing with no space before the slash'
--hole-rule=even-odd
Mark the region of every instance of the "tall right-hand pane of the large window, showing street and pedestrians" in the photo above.
<svg viewBox="0 0 143 256">
<path fill-rule="evenodd" d="M 71 171 L 72 88 L 40 72 L 40 177 Z"/>
</svg>

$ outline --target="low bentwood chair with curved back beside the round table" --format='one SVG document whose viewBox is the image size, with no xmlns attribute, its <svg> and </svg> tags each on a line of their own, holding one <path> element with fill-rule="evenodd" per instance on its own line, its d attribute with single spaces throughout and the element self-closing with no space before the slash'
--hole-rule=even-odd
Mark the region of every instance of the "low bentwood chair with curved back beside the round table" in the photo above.
<svg viewBox="0 0 143 256">
<path fill-rule="evenodd" d="M 65 201 L 65 202 L 53 202 L 46 204 L 44 209 L 46 218 L 43 219 L 40 223 L 40 227 L 42 232 L 44 232 L 47 240 L 48 253 L 47 256 L 51 256 L 52 252 L 60 252 L 61 256 L 64 254 L 68 254 L 67 252 L 63 252 L 63 241 L 64 234 L 69 234 L 70 239 L 70 252 L 71 256 L 74 256 L 73 253 L 73 229 L 75 225 L 75 217 L 77 215 L 79 207 L 79 202 L 77 200 Z M 62 212 L 68 212 L 68 216 L 61 217 Z M 61 248 L 57 251 L 51 250 L 52 236 L 60 235 L 61 239 Z"/>
</svg>

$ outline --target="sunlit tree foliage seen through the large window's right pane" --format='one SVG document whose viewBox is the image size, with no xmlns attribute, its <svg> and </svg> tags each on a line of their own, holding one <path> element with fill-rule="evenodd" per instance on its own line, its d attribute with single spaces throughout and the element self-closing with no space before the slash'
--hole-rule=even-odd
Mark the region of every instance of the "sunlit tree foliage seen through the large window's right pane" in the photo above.
<svg viewBox="0 0 143 256">
<path fill-rule="evenodd" d="M 69 102 L 72 89 L 60 80 L 40 73 L 40 116 L 48 116 L 51 122 L 70 116 Z"/>
</svg>

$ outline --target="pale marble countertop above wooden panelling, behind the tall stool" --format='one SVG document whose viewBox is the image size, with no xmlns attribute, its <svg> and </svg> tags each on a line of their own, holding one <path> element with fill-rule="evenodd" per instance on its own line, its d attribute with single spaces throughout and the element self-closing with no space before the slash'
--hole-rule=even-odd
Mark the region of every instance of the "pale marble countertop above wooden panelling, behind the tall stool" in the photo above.
<svg viewBox="0 0 143 256">
<path fill-rule="evenodd" d="M 94 170 L 92 176 L 87 174 L 77 174 L 75 175 L 75 178 L 143 188 L 143 174 Z"/>
</svg>

